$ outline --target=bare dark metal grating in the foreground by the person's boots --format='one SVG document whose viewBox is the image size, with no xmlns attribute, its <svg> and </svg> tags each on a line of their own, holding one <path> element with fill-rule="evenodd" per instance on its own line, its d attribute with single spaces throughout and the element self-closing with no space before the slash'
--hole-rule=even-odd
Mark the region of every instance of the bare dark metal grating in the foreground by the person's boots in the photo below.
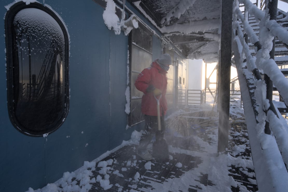
<svg viewBox="0 0 288 192">
<path fill-rule="evenodd" d="M 117 163 L 113 163 L 113 165 L 111 165 L 111 171 L 109 170 L 109 172 L 107 172 L 110 175 L 110 184 L 113 184 L 113 187 L 111 187 L 109 191 L 118 191 L 119 187 L 117 187 L 118 185 L 116 186 L 116 184 L 119 184 L 123 191 L 130 191 L 131 189 L 136 191 L 152 191 L 159 189 L 159 186 L 164 182 L 167 182 L 167 179 L 179 178 L 185 172 L 198 167 L 198 165 L 202 162 L 200 157 L 175 153 L 170 154 L 173 156 L 173 160 L 170 160 L 168 164 L 167 161 L 152 160 L 151 162 L 154 163 L 154 165 L 151 166 L 151 170 L 146 170 L 144 165 L 147 163 L 147 161 L 140 159 L 138 156 L 133 157 L 133 155 L 136 154 L 134 148 L 134 145 L 126 145 L 101 160 L 117 160 Z M 137 161 L 136 166 L 128 167 L 127 171 L 121 171 L 122 167 L 126 167 L 128 159 L 130 161 L 132 160 L 132 163 L 133 161 Z M 175 164 L 178 162 L 182 163 L 181 168 L 175 166 Z M 96 167 L 96 170 L 93 171 L 95 177 L 99 175 L 100 170 L 101 167 Z M 119 173 L 121 173 L 123 177 L 113 174 L 113 172 L 116 170 L 119 170 Z M 134 180 L 134 175 L 137 172 L 141 176 L 141 182 L 136 182 Z M 100 183 L 96 182 L 93 184 L 90 191 L 98 191 L 101 189 Z"/>
</svg>

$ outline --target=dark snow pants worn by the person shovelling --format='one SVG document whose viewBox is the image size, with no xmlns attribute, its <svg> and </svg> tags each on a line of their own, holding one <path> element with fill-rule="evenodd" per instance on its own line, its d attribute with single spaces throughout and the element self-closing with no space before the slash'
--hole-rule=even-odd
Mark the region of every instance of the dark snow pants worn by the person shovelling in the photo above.
<svg viewBox="0 0 288 192">
<path fill-rule="evenodd" d="M 160 117 L 161 131 L 158 130 L 158 118 L 157 116 L 145 115 L 145 129 L 137 147 L 138 152 L 146 150 L 147 146 L 151 142 L 154 135 L 156 135 L 156 141 L 164 138 L 165 122 L 164 115 Z"/>
</svg>

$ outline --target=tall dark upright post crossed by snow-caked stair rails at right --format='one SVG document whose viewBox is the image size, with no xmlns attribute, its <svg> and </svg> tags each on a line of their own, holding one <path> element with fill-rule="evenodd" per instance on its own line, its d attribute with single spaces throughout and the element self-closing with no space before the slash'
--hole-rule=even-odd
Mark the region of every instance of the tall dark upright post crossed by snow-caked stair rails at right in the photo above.
<svg viewBox="0 0 288 192">
<path fill-rule="evenodd" d="M 277 0 L 267 0 L 266 1 L 266 5 L 267 5 L 267 8 L 268 8 L 268 14 L 270 15 L 270 20 L 276 20 L 277 19 L 277 4 L 278 4 L 278 1 Z M 270 51 L 270 59 L 274 59 L 274 52 L 275 52 L 275 37 L 272 41 L 273 43 L 273 47 L 272 47 L 272 50 Z M 266 99 L 269 100 L 269 103 L 270 103 L 270 107 L 267 109 L 268 110 L 273 110 L 272 108 L 274 107 L 273 106 L 273 103 L 272 103 L 272 95 L 273 95 L 273 82 L 270 80 L 270 78 L 268 77 L 268 75 L 264 74 L 264 80 L 265 80 L 265 83 L 266 83 Z M 274 109 L 275 110 L 275 109 Z M 265 113 L 267 114 L 267 111 L 265 111 Z M 264 129 L 264 132 L 266 134 L 271 134 L 271 131 L 270 131 L 270 128 L 269 128 L 269 122 L 266 121 L 265 122 L 265 129 Z"/>
</svg>

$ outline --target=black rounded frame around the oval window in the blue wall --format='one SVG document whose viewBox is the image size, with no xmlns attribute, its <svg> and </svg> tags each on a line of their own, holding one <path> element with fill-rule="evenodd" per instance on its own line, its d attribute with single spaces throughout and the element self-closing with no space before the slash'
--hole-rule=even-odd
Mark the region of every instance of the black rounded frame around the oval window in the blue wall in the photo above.
<svg viewBox="0 0 288 192">
<path fill-rule="evenodd" d="M 14 114 L 14 106 L 13 106 L 13 82 L 14 82 L 14 76 L 13 76 L 13 45 L 12 37 L 14 32 L 12 31 L 12 22 L 16 16 L 16 14 L 26 8 L 35 8 L 42 10 L 49 14 L 60 26 L 62 33 L 64 35 L 64 43 L 65 43 L 65 55 L 64 55 L 64 80 L 65 83 L 64 86 L 64 103 L 66 104 L 63 109 L 63 113 L 60 118 L 58 118 L 53 124 L 54 126 L 50 127 L 49 129 L 44 129 L 42 131 L 31 131 L 27 129 L 26 127 L 23 127 L 15 117 Z M 20 1 L 12 5 L 9 10 L 6 12 L 5 15 L 5 44 L 6 44 L 6 74 L 7 74 L 7 108 L 8 108 L 8 114 L 10 121 L 12 125 L 21 133 L 33 137 L 42 137 L 44 134 L 50 134 L 56 131 L 65 121 L 68 112 L 69 112 L 69 100 L 70 100 L 70 94 L 69 94 L 69 35 L 68 31 L 65 27 L 65 24 L 62 22 L 61 18 L 59 18 L 53 10 L 51 10 L 49 7 L 41 4 L 41 3 L 30 3 L 29 5 L 26 5 L 26 3 Z"/>
</svg>

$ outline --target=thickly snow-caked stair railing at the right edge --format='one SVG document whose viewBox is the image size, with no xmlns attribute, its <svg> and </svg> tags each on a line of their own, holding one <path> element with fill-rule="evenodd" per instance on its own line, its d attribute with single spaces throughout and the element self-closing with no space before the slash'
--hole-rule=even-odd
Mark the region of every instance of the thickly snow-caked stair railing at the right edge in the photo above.
<svg viewBox="0 0 288 192">
<path fill-rule="evenodd" d="M 245 5 L 244 15 L 239 10 L 239 2 Z M 268 8 L 266 9 L 266 13 L 264 13 L 249 0 L 239 0 L 239 2 L 237 0 L 234 1 L 233 6 L 233 52 L 234 55 L 237 54 L 238 61 L 235 60 L 236 65 L 238 65 L 237 68 L 241 69 L 249 89 L 257 122 L 257 126 L 255 127 L 257 131 L 257 139 L 261 145 L 262 153 L 264 153 L 266 164 L 268 165 L 267 169 L 270 171 L 272 185 L 275 191 L 281 191 L 281 188 L 275 186 L 282 185 L 282 183 L 280 183 L 280 180 L 275 178 L 278 177 L 276 174 L 281 170 L 283 177 L 288 179 L 288 126 L 285 121 L 282 121 L 283 119 L 279 119 L 281 114 L 274 108 L 273 103 L 266 99 L 266 82 L 262 80 L 258 69 L 269 76 L 287 107 L 288 81 L 278 68 L 274 59 L 270 59 L 269 53 L 273 48 L 272 40 L 275 36 L 277 36 L 281 42 L 287 44 L 288 32 L 278 25 L 275 20 L 275 22 L 269 20 Z M 256 21 L 259 22 L 260 32 L 258 37 L 248 23 L 248 13 L 254 15 Z M 243 28 L 241 28 L 238 20 L 241 20 Z M 244 31 L 244 34 L 242 30 Z M 283 36 L 280 33 L 287 35 Z M 257 53 L 256 57 L 251 55 L 247 39 L 245 41 L 245 35 L 248 35 L 250 42 L 255 45 L 255 52 Z M 239 75 L 240 74 L 238 74 L 238 76 Z M 264 133 L 265 126 L 267 125 L 265 125 L 265 122 L 269 122 L 268 125 L 271 130 L 271 135 Z M 276 142 L 272 142 L 271 139 Z M 270 146 L 267 146 L 267 143 L 269 143 Z M 272 152 L 273 154 L 271 154 Z M 275 166 L 271 164 L 273 161 L 279 163 L 279 169 L 273 167 Z M 283 166 L 286 168 L 284 172 Z"/>
</svg>

